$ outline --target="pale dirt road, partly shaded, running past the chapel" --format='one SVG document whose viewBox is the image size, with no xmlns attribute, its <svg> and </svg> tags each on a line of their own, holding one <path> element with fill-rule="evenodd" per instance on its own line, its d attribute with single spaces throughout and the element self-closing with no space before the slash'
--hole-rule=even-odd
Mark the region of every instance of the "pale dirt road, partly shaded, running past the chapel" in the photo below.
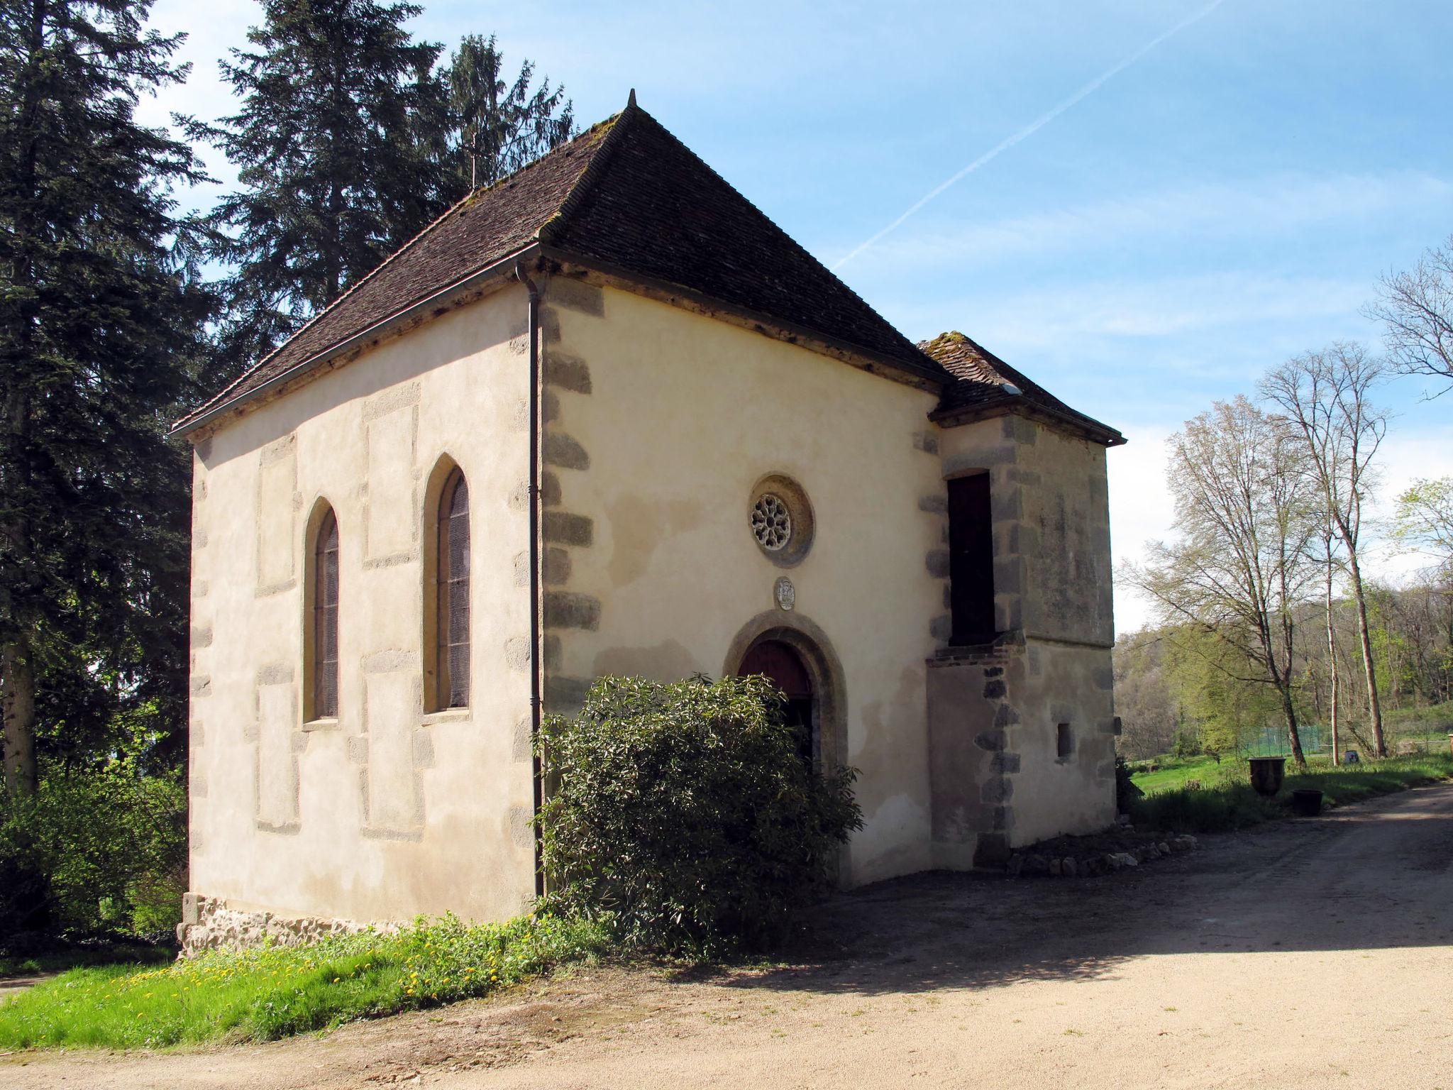
<svg viewBox="0 0 1453 1090">
<path fill-rule="evenodd" d="M 873 887 L 795 966 L 596 969 L 327 1038 L 9 1057 L 0 1086 L 1453 1090 L 1453 785 L 1202 844 L 1103 878 Z"/>
</svg>

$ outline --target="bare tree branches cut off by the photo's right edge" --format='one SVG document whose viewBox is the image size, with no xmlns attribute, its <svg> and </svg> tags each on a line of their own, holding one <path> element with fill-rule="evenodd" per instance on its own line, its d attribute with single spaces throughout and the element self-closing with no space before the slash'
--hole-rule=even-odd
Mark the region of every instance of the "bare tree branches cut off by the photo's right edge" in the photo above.
<svg viewBox="0 0 1453 1090">
<path fill-rule="evenodd" d="M 1453 389 L 1453 235 L 1407 272 L 1383 276 L 1366 312 L 1386 327 L 1399 371 L 1447 379 L 1437 394 Z"/>
</svg>

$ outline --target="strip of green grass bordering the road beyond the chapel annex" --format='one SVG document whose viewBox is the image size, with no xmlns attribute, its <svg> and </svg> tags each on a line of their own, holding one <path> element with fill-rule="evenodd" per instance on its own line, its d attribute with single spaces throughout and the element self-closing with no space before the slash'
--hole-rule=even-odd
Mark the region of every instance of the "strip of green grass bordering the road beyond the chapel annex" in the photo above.
<svg viewBox="0 0 1453 1090">
<path fill-rule="evenodd" d="M 1453 756 L 1449 754 L 1343 767 L 1314 759 L 1306 772 L 1296 772 L 1289 763 L 1282 791 L 1268 799 L 1251 789 L 1244 759 L 1223 757 L 1219 766 L 1210 757 L 1155 763 L 1161 764 L 1159 770 L 1132 778 L 1145 796 L 1130 805 L 1130 817 L 1138 825 L 1178 833 L 1223 833 L 1287 817 L 1292 792 L 1298 788 L 1315 788 L 1322 792 L 1324 805 L 1337 807 L 1453 778 Z M 1199 780 L 1202 786 L 1186 786 L 1187 780 Z"/>
</svg>

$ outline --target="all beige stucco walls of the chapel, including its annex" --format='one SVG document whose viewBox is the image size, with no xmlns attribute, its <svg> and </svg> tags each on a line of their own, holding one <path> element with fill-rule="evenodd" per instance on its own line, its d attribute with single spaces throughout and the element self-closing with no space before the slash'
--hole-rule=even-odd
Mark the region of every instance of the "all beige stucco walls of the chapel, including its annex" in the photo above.
<svg viewBox="0 0 1453 1090">
<path fill-rule="evenodd" d="M 572 711 L 604 673 L 721 674 L 783 628 L 821 651 L 824 751 L 862 770 L 844 882 L 971 866 L 985 844 L 1110 820 L 1103 448 L 1017 417 L 939 429 L 933 392 L 644 295 L 541 279 L 549 711 Z M 525 317 L 523 291 L 504 288 L 199 442 L 196 894 L 398 920 L 498 919 L 533 892 Z M 429 715 L 423 552 L 443 456 L 471 494 L 472 695 Z M 995 613 L 1013 638 L 965 657 L 946 645 L 944 480 L 974 469 L 991 472 Z M 788 568 L 748 529 L 772 474 L 814 512 L 812 548 Z M 340 714 L 307 724 L 321 501 L 341 535 Z M 1074 727 L 1069 759 L 1058 722 Z"/>
</svg>

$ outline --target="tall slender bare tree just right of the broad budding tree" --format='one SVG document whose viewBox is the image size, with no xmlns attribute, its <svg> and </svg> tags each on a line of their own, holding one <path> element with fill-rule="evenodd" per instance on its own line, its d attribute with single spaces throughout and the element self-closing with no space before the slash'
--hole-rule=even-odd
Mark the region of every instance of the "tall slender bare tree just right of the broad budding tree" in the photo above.
<svg viewBox="0 0 1453 1090">
<path fill-rule="evenodd" d="M 1373 748 L 1388 756 L 1382 734 L 1382 703 L 1367 628 L 1367 593 L 1363 587 L 1359 546 L 1363 500 L 1373 485 L 1373 459 L 1388 433 L 1388 414 L 1370 401 L 1385 365 L 1360 344 L 1338 342 L 1325 352 L 1308 352 L 1287 360 L 1261 381 L 1261 395 L 1286 414 L 1305 443 L 1305 468 L 1321 493 L 1324 514 L 1345 549 L 1345 567 L 1357 606 L 1363 674 L 1367 683 L 1367 718 Z M 1331 584 L 1328 584 L 1331 600 Z M 1335 648 L 1332 648 L 1335 661 Z"/>
</svg>

